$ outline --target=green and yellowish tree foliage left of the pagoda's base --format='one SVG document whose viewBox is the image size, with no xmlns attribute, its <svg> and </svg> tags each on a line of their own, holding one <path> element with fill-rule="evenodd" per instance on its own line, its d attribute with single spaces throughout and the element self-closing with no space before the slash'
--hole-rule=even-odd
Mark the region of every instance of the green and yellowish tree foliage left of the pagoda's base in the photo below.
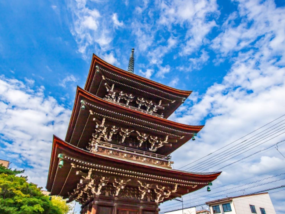
<svg viewBox="0 0 285 214">
<path fill-rule="evenodd" d="M 0 213 L 1 214 L 66 214 L 65 201 L 49 200 L 37 185 L 27 182 L 27 177 L 16 176 L 24 171 L 5 168 L 0 165 Z"/>
</svg>

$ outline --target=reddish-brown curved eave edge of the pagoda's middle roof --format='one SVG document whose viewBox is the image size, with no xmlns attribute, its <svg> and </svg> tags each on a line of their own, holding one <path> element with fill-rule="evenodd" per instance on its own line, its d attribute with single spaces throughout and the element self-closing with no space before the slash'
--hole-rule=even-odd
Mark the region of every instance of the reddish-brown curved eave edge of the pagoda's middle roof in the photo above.
<svg viewBox="0 0 285 214">
<path fill-rule="evenodd" d="M 166 120 L 164 118 L 158 118 L 158 117 L 152 116 L 150 114 L 138 112 L 136 110 L 132 110 L 132 109 L 126 108 L 124 106 L 120 106 L 120 105 L 108 102 L 108 101 L 101 99 L 97 96 L 94 96 L 93 94 L 87 92 L 86 90 L 84 90 L 78 86 L 77 91 L 76 91 L 75 101 L 74 101 L 74 107 L 72 110 L 72 115 L 70 118 L 68 130 L 67 130 L 67 134 L 66 134 L 66 138 L 65 138 L 66 142 L 70 142 L 72 132 L 74 131 L 74 127 L 76 124 L 76 120 L 78 119 L 78 114 L 79 114 L 79 110 L 80 110 L 80 99 L 81 98 L 88 99 L 92 102 L 100 102 L 103 105 L 105 104 L 105 105 L 113 106 L 116 109 L 118 109 L 118 111 L 120 111 L 120 110 L 128 111 L 130 113 L 133 113 L 134 116 L 143 117 L 143 118 L 145 118 L 145 120 L 152 120 L 158 124 L 163 124 L 166 126 L 172 126 L 174 128 L 180 128 L 180 129 L 184 129 L 187 131 L 194 131 L 194 132 L 198 133 L 204 127 L 204 126 L 190 126 L 190 125 L 180 124 L 180 123 L 177 123 L 174 121 Z"/>
</svg>

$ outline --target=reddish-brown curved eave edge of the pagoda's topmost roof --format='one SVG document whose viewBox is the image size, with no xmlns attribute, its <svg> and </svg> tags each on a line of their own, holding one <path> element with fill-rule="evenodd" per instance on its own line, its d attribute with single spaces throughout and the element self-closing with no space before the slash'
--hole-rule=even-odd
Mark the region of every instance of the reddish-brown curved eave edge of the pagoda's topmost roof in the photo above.
<svg viewBox="0 0 285 214">
<path fill-rule="evenodd" d="M 121 68 L 117 68 L 116 66 L 113 66 L 113 65 L 109 64 L 108 62 L 105 62 L 104 60 L 102 60 L 101 58 L 96 56 L 95 54 L 93 54 L 91 66 L 90 66 L 88 77 L 87 77 L 87 81 L 86 81 L 86 84 L 84 87 L 84 89 L 86 91 L 89 91 L 89 88 L 91 86 L 91 82 L 93 80 L 93 76 L 95 73 L 95 64 L 96 63 L 98 63 L 98 64 L 100 64 L 106 68 L 109 68 L 110 70 L 112 70 L 113 72 L 116 72 L 120 76 L 124 76 L 124 77 L 130 78 L 130 79 L 133 79 L 133 80 L 137 80 L 137 81 L 142 82 L 146 85 L 154 86 L 154 87 L 159 88 L 161 90 L 166 90 L 167 92 L 175 94 L 175 95 L 180 95 L 180 96 L 187 98 L 192 93 L 192 91 L 179 90 L 176 88 L 172 88 L 172 87 L 160 84 L 158 82 L 154 82 L 152 80 L 149 80 L 147 78 L 141 77 L 137 74 L 132 74 L 132 73 L 125 71 Z"/>
</svg>

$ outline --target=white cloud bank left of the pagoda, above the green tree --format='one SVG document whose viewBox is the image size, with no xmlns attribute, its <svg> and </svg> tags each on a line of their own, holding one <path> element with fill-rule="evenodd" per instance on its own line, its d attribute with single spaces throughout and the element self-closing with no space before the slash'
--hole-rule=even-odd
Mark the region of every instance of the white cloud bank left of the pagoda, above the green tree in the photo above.
<svg viewBox="0 0 285 214">
<path fill-rule="evenodd" d="M 42 187 L 47 179 L 52 136 L 64 138 L 71 114 L 53 97 L 45 97 L 43 90 L 0 77 L 0 154 L 12 161 L 13 167 L 25 168 L 29 181 Z"/>
</svg>

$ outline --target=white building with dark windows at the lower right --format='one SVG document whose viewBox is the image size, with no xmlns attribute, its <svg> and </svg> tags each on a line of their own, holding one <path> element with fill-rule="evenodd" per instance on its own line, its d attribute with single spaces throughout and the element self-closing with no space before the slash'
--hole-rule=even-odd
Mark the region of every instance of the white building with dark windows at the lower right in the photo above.
<svg viewBox="0 0 285 214">
<path fill-rule="evenodd" d="M 268 192 L 206 202 L 211 214 L 276 214 Z"/>
</svg>

